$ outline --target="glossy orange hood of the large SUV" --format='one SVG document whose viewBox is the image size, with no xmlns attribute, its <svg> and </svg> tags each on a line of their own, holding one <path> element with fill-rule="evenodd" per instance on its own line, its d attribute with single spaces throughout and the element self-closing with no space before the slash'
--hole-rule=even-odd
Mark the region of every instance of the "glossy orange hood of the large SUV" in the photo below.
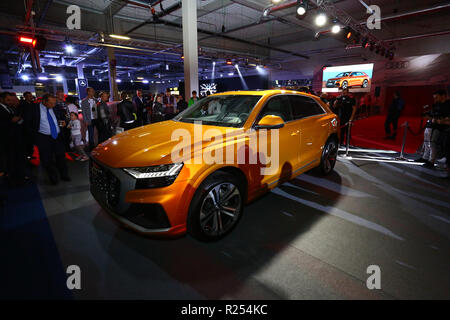
<svg viewBox="0 0 450 320">
<path fill-rule="evenodd" d="M 189 146 L 194 150 L 194 127 L 192 123 L 179 121 L 163 121 L 118 134 L 92 151 L 94 159 L 113 168 L 144 167 L 158 164 L 172 163 L 172 152 L 183 150 Z M 200 126 L 199 126 L 200 127 Z M 229 128 L 217 126 L 201 126 L 203 134 L 207 129 L 213 129 L 212 136 L 222 136 L 227 132 L 227 137 L 234 138 L 243 134 L 242 128 Z M 190 140 L 172 140 L 172 133 L 189 134 Z M 198 134 L 198 133 L 197 133 Z M 211 139 L 203 140 L 203 134 L 199 135 L 199 143 L 202 149 L 214 144 Z M 210 135 L 211 136 L 211 135 Z M 212 139 L 213 140 L 213 139 Z M 201 142 L 200 142 L 201 141 Z M 186 150 L 186 149 L 185 149 Z"/>
</svg>

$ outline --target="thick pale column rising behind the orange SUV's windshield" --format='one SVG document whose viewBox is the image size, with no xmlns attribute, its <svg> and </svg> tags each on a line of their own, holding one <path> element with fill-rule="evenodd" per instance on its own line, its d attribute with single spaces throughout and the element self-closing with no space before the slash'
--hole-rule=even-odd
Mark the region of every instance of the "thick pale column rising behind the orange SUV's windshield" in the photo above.
<svg viewBox="0 0 450 320">
<path fill-rule="evenodd" d="M 184 91 L 189 101 L 191 92 L 198 90 L 197 1 L 182 0 Z"/>
</svg>

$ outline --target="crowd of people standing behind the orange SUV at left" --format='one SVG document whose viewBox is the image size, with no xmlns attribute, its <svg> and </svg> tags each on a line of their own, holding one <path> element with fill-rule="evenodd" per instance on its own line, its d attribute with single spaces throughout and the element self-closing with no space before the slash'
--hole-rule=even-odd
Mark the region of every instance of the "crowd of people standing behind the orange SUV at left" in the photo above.
<svg viewBox="0 0 450 320">
<path fill-rule="evenodd" d="M 20 99 L 13 92 L 2 92 L 0 177 L 6 176 L 11 187 L 24 185 L 30 179 L 27 164 L 39 157 L 51 184 L 70 181 L 66 153 L 86 161 L 96 145 L 116 132 L 171 119 L 188 107 L 181 95 L 172 95 L 170 90 L 144 95 L 138 89 L 133 98 L 127 92 L 120 97 L 113 108 L 109 93 L 96 94 L 94 88 L 87 88 L 86 97 L 79 103 L 62 90 L 39 99 L 31 92 Z M 194 91 L 189 105 L 197 100 Z"/>
</svg>

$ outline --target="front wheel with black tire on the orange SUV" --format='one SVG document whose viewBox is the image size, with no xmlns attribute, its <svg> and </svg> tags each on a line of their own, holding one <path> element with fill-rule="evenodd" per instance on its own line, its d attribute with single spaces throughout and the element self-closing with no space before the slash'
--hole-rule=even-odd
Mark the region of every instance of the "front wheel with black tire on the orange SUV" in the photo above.
<svg viewBox="0 0 450 320">
<path fill-rule="evenodd" d="M 226 199 L 228 193 L 231 197 Z M 201 183 L 192 198 L 187 232 L 200 241 L 217 241 L 236 227 L 243 209 L 241 181 L 228 173 L 213 173 Z"/>
</svg>

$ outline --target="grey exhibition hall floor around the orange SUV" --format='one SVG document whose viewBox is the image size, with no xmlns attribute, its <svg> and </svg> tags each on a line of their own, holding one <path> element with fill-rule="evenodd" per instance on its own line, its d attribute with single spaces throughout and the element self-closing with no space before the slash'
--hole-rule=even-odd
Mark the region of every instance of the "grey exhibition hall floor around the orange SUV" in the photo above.
<svg viewBox="0 0 450 320">
<path fill-rule="evenodd" d="M 121 228 L 93 200 L 87 163 L 72 182 L 8 190 L 1 211 L 1 298 L 450 298 L 450 180 L 440 171 L 341 160 L 245 208 L 217 243 Z M 4 188 L 4 187 L 3 187 Z M 66 269 L 81 268 L 81 290 Z M 381 270 L 369 290 L 367 268 Z"/>
</svg>

